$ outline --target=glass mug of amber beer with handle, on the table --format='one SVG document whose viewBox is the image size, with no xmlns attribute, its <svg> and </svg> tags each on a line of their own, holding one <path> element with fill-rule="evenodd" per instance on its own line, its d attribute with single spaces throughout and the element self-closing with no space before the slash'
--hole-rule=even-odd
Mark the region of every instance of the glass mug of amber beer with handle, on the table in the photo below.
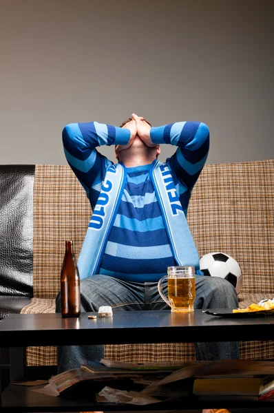
<svg viewBox="0 0 274 413">
<path fill-rule="evenodd" d="M 167 279 L 167 295 L 162 292 L 162 282 Z M 159 279 L 158 291 L 162 299 L 171 307 L 172 313 L 189 313 L 194 311 L 195 267 L 171 266 L 167 275 Z"/>
</svg>

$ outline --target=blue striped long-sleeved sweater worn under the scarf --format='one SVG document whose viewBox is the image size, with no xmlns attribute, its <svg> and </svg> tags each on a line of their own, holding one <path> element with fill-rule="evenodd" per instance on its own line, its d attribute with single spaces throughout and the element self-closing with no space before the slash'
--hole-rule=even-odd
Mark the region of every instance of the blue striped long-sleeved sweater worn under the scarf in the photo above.
<svg viewBox="0 0 274 413">
<path fill-rule="evenodd" d="M 150 135 L 156 144 L 178 146 L 176 153 L 167 159 L 167 165 L 187 215 L 191 190 L 207 160 L 209 129 L 204 123 L 180 122 L 152 127 Z M 63 129 L 67 162 L 83 185 L 92 209 L 107 168 L 113 163 L 96 147 L 125 145 L 129 137 L 129 129 L 96 122 L 73 123 Z M 149 167 L 127 168 L 123 197 L 101 261 L 101 274 L 134 282 L 157 282 L 167 273 L 167 266 L 177 265 L 149 177 Z"/>
</svg>

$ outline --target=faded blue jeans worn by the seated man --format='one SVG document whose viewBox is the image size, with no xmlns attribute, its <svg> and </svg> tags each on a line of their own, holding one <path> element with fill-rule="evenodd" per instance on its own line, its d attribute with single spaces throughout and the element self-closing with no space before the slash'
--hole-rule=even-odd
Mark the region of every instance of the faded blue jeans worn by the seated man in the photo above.
<svg viewBox="0 0 274 413">
<path fill-rule="evenodd" d="M 196 275 L 195 281 L 194 308 L 238 308 L 235 288 L 226 279 Z M 114 313 L 122 310 L 167 310 L 169 306 L 160 297 L 157 284 L 126 282 L 106 275 L 93 275 L 81 281 L 81 312 L 96 312 L 100 306 L 112 306 Z M 167 282 L 162 283 L 162 290 L 167 295 Z M 59 293 L 56 297 L 56 313 L 60 312 Z M 202 341 L 194 345 L 197 360 L 240 358 L 237 341 Z M 85 360 L 100 361 L 103 354 L 101 345 L 59 347 L 58 372 L 79 367 Z"/>
</svg>

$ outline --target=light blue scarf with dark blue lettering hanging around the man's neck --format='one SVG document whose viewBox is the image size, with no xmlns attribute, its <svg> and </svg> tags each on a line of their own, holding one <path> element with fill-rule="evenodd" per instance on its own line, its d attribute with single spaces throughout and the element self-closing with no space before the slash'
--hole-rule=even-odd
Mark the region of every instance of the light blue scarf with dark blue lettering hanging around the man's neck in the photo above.
<svg viewBox="0 0 274 413">
<path fill-rule="evenodd" d="M 167 229 L 173 257 L 178 265 L 193 265 L 196 274 L 200 271 L 200 260 L 185 213 L 176 191 L 171 172 L 167 164 L 154 160 L 149 170 L 154 184 L 162 218 Z M 98 274 L 109 231 L 116 217 L 123 195 L 126 168 L 123 163 L 111 165 L 107 169 L 105 180 L 92 218 L 87 228 L 85 240 L 78 258 L 80 279 Z"/>
</svg>

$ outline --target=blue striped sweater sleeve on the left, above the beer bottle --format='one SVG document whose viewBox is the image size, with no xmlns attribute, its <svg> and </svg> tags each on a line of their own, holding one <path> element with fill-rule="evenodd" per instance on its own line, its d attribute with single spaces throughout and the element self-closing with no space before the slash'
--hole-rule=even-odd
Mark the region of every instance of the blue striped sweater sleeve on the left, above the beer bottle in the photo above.
<svg viewBox="0 0 274 413">
<path fill-rule="evenodd" d="M 71 123 L 64 127 L 62 138 L 65 158 L 85 189 L 93 208 L 107 168 L 113 163 L 101 155 L 96 147 L 126 145 L 130 131 L 98 122 Z"/>
</svg>

